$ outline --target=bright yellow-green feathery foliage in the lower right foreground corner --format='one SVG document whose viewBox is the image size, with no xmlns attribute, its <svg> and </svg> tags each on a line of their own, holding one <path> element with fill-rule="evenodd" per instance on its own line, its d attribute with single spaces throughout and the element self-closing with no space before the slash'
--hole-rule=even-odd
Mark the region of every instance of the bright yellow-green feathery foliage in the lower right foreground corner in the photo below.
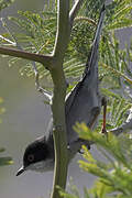
<svg viewBox="0 0 132 198">
<path fill-rule="evenodd" d="M 128 135 L 120 138 L 109 133 L 108 139 L 98 132 L 91 132 L 84 123 L 76 125 L 80 138 L 96 143 L 106 162 L 95 160 L 91 153 L 84 148 L 85 161 L 79 161 L 80 167 L 98 178 L 91 189 L 85 187 L 85 198 L 130 198 L 132 197 L 132 140 Z M 66 198 L 79 198 L 74 187 L 73 194 L 61 190 Z"/>
</svg>

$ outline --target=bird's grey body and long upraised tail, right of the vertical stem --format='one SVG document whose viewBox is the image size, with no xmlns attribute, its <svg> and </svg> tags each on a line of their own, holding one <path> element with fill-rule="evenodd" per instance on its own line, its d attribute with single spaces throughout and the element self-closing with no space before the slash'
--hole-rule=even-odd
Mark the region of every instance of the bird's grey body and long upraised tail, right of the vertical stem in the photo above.
<svg viewBox="0 0 132 198">
<path fill-rule="evenodd" d="M 98 90 L 98 45 L 105 18 L 105 6 L 100 11 L 94 44 L 88 57 L 82 79 L 76 85 L 66 99 L 66 127 L 68 142 L 78 138 L 73 130 L 76 121 L 89 125 L 92 121 L 91 110 L 100 107 L 100 95 Z"/>
</svg>

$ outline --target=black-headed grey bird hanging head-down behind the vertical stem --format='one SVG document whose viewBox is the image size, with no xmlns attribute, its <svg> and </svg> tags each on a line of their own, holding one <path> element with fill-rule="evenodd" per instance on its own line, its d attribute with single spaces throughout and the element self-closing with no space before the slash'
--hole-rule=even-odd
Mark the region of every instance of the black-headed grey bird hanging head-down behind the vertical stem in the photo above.
<svg viewBox="0 0 132 198">
<path fill-rule="evenodd" d="M 100 113 L 101 98 L 98 90 L 98 45 L 102 30 L 105 10 L 103 4 L 82 78 L 66 99 L 65 116 L 68 162 L 74 158 L 77 152 L 80 152 L 82 144 L 90 148 L 90 143 L 81 140 L 74 131 L 73 125 L 76 121 L 84 121 L 90 129 L 94 129 Z M 51 119 L 46 135 L 36 139 L 26 146 L 23 155 L 23 165 L 18 170 L 16 176 L 25 170 L 41 173 L 53 170 L 54 162 L 53 119 Z"/>
</svg>

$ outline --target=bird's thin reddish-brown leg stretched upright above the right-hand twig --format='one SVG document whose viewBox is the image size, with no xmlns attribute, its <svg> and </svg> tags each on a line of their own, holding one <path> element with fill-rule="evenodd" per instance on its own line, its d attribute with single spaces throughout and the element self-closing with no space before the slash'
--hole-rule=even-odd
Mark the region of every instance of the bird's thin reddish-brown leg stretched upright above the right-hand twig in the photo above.
<svg viewBox="0 0 132 198">
<path fill-rule="evenodd" d="M 101 105 L 103 106 L 103 123 L 102 123 L 102 130 L 101 133 L 103 133 L 105 135 L 107 135 L 107 130 L 106 130 L 106 117 L 107 117 L 107 99 L 103 97 Z"/>
</svg>

